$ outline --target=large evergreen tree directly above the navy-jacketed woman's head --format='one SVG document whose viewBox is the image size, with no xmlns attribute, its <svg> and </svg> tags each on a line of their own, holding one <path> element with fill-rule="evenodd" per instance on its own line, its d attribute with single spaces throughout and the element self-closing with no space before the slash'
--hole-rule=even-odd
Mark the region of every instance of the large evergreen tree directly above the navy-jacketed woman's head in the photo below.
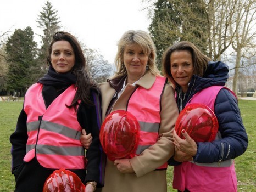
<svg viewBox="0 0 256 192">
<path fill-rule="evenodd" d="M 157 47 L 158 60 L 166 48 L 179 41 L 191 41 L 207 50 L 207 14 L 202 0 L 158 0 L 149 32 Z"/>
</svg>

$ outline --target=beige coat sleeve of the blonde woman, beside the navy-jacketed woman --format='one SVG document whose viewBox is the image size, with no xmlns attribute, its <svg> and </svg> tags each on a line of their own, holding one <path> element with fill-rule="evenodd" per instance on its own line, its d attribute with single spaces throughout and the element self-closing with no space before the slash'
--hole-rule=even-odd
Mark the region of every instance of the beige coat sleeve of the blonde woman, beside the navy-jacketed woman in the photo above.
<svg viewBox="0 0 256 192">
<path fill-rule="evenodd" d="M 141 177 L 162 166 L 174 154 L 172 130 L 179 115 L 174 91 L 166 84 L 161 98 L 160 128 L 157 142 L 144 150 L 139 156 L 130 159 L 137 177 Z"/>
</svg>

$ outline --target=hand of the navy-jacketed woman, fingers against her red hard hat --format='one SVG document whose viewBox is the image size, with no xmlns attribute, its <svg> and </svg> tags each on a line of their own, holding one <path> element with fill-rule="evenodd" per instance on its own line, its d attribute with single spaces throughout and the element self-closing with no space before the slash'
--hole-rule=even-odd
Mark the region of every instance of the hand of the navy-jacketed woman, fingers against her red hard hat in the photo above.
<svg viewBox="0 0 256 192">
<path fill-rule="evenodd" d="M 185 139 L 181 139 L 177 135 L 176 131 L 174 130 L 175 148 L 177 148 L 177 150 L 182 151 L 183 153 L 186 153 L 191 156 L 195 156 L 197 154 L 196 142 L 194 142 L 194 140 L 190 137 L 190 135 L 187 134 L 187 132 L 184 129 L 182 129 L 181 133 L 185 137 Z M 176 153 L 176 149 L 175 149 L 175 153 Z"/>
</svg>

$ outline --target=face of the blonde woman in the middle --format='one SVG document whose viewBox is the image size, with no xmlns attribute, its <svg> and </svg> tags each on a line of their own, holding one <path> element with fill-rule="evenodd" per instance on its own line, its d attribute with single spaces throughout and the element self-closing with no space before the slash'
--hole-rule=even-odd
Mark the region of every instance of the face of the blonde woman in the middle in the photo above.
<svg viewBox="0 0 256 192">
<path fill-rule="evenodd" d="M 143 49 L 138 46 L 138 44 L 125 47 L 124 65 L 128 75 L 128 83 L 139 80 L 145 74 L 147 62 L 148 55 L 144 53 Z"/>
</svg>

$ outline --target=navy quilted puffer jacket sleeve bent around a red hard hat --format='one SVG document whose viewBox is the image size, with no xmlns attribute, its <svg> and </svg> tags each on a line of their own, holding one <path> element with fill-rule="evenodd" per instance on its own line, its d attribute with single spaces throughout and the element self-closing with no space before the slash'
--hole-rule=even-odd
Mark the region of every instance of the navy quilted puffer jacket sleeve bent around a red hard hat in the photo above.
<svg viewBox="0 0 256 192">
<path fill-rule="evenodd" d="M 194 161 L 199 163 L 220 162 L 242 155 L 248 146 L 248 136 L 243 126 L 236 97 L 227 89 L 218 93 L 215 115 L 219 122 L 221 138 L 213 142 L 198 142 Z M 209 158 L 211 157 L 211 158 Z"/>
</svg>

